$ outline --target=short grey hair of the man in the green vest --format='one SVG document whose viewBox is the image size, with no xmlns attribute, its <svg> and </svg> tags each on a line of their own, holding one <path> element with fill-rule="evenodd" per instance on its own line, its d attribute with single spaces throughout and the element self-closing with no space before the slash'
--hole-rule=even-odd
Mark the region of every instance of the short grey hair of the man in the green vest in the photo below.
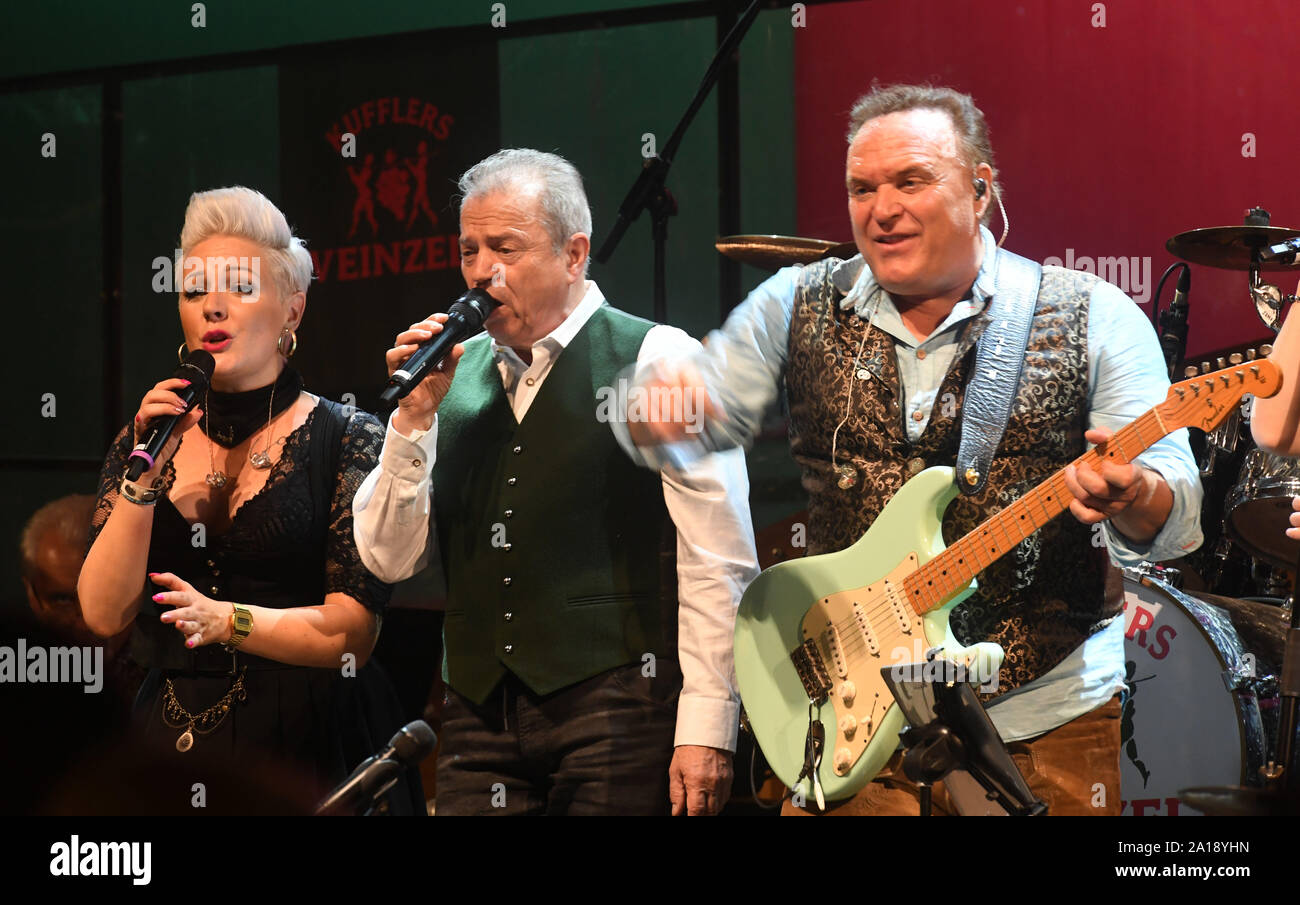
<svg viewBox="0 0 1300 905">
<path fill-rule="evenodd" d="M 506 148 L 480 160 L 460 177 L 462 203 L 476 195 L 519 191 L 537 186 L 546 233 L 555 254 L 575 233 L 592 235 L 592 208 L 582 189 L 582 177 L 558 153 L 532 148 Z"/>
</svg>

